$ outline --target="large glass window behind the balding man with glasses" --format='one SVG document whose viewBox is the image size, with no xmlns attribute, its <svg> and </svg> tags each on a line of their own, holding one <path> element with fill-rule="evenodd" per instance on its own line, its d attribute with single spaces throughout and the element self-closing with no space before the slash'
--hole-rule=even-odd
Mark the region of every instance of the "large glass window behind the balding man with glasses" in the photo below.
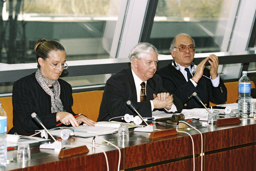
<svg viewBox="0 0 256 171">
<path fill-rule="evenodd" d="M 150 43 L 159 53 L 170 54 L 175 35 L 187 33 L 197 53 L 223 51 L 224 34 L 233 27 L 236 11 L 232 0 L 159 0 Z"/>
</svg>

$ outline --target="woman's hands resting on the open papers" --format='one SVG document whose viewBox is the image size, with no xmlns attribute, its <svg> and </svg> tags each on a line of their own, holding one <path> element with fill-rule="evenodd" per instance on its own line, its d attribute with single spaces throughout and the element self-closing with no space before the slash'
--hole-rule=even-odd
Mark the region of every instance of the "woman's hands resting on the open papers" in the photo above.
<svg viewBox="0 0 256 171">
<path fill-rule="evenodd" d="M 88 126 L 95 126 L 96 122 L 90 120 L 84 115 L 74 117 L 71 113 L 68 112 L 57 112 L 56 122 L 61 121 L 65 125 L 72 125 L 74 128 L 78 127 L 81 123 L 85 123 Z"/>
</svg>

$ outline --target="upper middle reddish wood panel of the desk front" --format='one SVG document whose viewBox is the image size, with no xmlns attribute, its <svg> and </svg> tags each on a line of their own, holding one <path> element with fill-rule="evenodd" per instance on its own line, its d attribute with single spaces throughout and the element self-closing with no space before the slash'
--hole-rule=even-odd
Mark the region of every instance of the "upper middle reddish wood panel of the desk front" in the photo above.
<svg viewBox="0 0 256 171">
<path fill-rule="evenodd" d="M 179 137 L 180 135 L 184 137 Z M 162 140 L 154 139 L 155 142 L 152 143 L 126 147 L 124 149 L 124 168 L 128 169 L 192 155 L 191 138 L 184 133 L 180 133 L 180 135 L 163 137 Z M 201 136 L 197 134 L 192 135 L 192 137 L 195 154 L 199 154 L 201 153 Z"/>
</svg>

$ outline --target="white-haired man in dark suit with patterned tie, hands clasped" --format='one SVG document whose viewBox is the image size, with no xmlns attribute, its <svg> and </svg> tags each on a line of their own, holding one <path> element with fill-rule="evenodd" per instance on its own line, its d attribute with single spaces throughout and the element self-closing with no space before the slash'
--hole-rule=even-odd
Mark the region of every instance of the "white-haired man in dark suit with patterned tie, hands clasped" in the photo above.
<svg viewBox="0 0 256 171">
<path fill-rule="evenodd" d="M 165 90 L 162 79 L 155 75 L 157 49 L 149 43 L 139 43 L 129 54 L 131 67 L 112 75 L 106 82 L 100 104 L 99 121 L 137 114 L 126 105 L 131 101 L 142 117 L 152 117 L 154 109 L 181 112 L 181 101 Z"/>
</svg>

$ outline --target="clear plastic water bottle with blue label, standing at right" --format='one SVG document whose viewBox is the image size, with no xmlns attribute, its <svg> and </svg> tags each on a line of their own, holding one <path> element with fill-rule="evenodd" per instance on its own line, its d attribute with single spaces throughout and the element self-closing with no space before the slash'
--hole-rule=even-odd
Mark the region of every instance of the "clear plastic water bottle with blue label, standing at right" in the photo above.
<svg viewBox="0 0 256 171">
<path fill-rule="evenodd" d="M 247 76 L 247 71 L 243 71 L 243 76 L 238 83 L 238 113 L 239 117 L 250 118 L 251 113 L 251 80 Z"/>
</svg>

